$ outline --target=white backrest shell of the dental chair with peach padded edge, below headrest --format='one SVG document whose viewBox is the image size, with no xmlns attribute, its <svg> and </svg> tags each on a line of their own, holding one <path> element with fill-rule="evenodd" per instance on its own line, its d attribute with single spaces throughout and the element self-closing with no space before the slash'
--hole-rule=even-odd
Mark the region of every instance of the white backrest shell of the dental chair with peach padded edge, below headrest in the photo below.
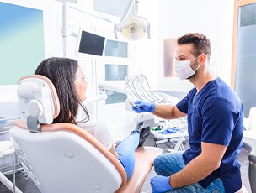
<svg viewBox="0 0 256 193">
<path fill-rule="evenodd" d="M 82 128 L 56 123 L 31 133 L 24 123 L 14 125 L 16 153 L 41 192 L 115 192 L 125 185 L 118 159 Z"/>
</svg>

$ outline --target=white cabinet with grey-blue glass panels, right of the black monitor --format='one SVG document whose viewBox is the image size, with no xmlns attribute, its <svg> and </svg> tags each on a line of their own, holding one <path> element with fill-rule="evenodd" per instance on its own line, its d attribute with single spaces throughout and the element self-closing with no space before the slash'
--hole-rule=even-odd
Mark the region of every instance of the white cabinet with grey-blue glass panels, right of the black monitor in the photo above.
<svg viewBox="0 0 256 193">
<path fill-rule="evenodd" d="M 125 109 L 125 76 L 128 75 L 129 43 L 107 39 L 102 60 L 96 60 L 97 82 L 104 82 L 113 89 L 105 90 L 108 98 L 98 102 L 97 115 L 104 119 L 114 139 L 123 139 L 134 127 L 128 126 L 130 119 Z"/>
</svg>

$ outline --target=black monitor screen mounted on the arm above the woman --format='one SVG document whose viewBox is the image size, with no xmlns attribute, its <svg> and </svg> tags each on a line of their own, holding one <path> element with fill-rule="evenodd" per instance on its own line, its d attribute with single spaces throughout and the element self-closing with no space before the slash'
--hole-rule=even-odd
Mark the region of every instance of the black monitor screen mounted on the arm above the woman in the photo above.
<svg viewBox="0 0 256 193">
<path fill-rule="evenodd" d="M 82 30 L 78 52 L 89 55 L 103 55 L 105 38 Z"/>
</svg>

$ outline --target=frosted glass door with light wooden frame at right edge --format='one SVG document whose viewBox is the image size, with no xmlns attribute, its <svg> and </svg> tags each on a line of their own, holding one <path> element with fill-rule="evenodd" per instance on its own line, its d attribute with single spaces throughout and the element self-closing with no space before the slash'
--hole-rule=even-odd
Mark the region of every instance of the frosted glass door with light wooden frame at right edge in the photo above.
<svg viewBox="0 0 256 193">
<path fill-rule="evenodd" d="M 234 18 L 233 87 L 248 117 L 256 106 L 256 0 L 236 1 Z"/>
</svg>

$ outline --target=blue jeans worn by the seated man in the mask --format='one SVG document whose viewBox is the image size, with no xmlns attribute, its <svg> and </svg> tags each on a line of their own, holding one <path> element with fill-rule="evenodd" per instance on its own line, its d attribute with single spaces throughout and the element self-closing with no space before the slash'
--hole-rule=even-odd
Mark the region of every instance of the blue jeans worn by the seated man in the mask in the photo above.
<svg viewBox="0 0 256 193">
<path fill-rule="evenodd" d="M 154 170 L 156 171 L 157 175 L 173 175 L 179 170 L 183 169 L 185 164 L 182 158 L 182 154 L 184 152 L 175 152 L 169 154 L 161 154 L 157 156 L 154 160 Z M 210 185 L 206 188 L 203 188 L 199 183 L 195 183 L 193 185 L 187 185 L 181 188 L 176 188 L 174 190 L 170 190 L 168 192 L 178 193 L 178 192 L 225 192 L 223 183 L 221 179 L 217 178 Z"/>
</svg>

